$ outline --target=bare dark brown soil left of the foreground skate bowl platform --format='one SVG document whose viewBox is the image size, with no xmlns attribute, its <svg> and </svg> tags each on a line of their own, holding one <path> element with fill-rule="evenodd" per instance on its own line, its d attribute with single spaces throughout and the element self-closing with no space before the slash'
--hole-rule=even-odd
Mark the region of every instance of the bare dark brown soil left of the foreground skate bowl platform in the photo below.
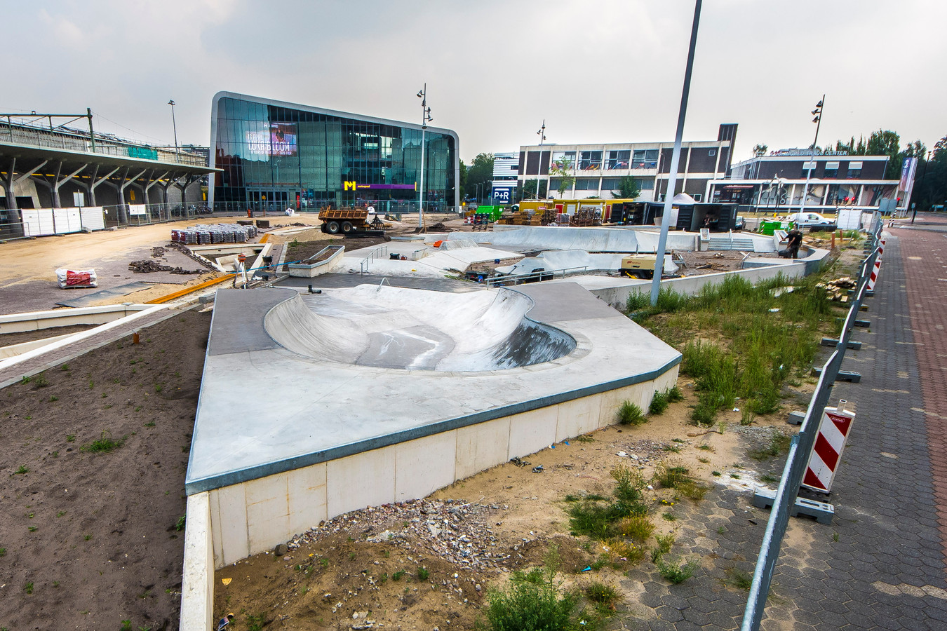
<svg viewBox="0 0 947 631">
<path fill-rule="evenodd" d="M 0 627 L 177 629 L 209 316 L 0 391 Z M 103 439 L 120 446 L 95 451 Z"/>
</svg>

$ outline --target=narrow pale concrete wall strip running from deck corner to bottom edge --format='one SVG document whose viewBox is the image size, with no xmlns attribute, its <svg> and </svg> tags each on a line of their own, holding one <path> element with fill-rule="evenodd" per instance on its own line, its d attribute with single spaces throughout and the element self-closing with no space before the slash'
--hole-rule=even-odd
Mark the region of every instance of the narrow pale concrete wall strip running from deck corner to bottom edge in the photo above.
<svg viewBox="0 0 947 631">
<path fill-rule="evenodd" d="M 180 620 L 182 631 L 210 629 L 214 621 L 214 551 L 207 493 L 188 497 Z"/>
</svg>

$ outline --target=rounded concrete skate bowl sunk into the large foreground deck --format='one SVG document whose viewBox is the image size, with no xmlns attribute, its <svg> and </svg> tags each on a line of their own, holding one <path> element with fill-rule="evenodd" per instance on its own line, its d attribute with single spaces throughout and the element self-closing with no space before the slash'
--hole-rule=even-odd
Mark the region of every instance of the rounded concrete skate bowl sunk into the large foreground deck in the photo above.
<svg viewBox="0 0 947 631">
<path fill-rule="evenodd" d="M 444 293 L 362 285 L 299 294 L 270 309 L 267 333 L 304 357 L 438 371 L 491 371 L 559 359 L 575 340 L 529 320 L 509 289 Z"/>
</svg>

